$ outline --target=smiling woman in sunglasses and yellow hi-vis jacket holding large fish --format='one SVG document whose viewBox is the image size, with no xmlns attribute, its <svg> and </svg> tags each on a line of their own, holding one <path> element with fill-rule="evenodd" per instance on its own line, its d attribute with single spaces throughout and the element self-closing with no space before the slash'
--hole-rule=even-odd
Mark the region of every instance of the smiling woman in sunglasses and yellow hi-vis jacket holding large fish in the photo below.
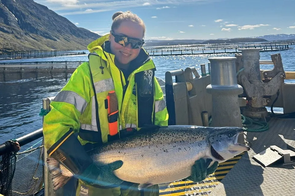
<svg viewBox="0 0 295 196">
<path fill-rule="evenodd" d="M 110 34 L 88 45 L 89 62 L 75 70 L 44 118 L 47 153 L 79 179 L 76 195 L 159 195 L 158 185 L 138 191 L 138 184 L 118 179 L 113 170 L 122 161 L 98 168 L 86 153 L 144 126 L 168 125 L 154 63 L 142 48 L 144 34 L 145 25 L 136 14 L 116 12 Z M 201 161 L 193 166 L 190 180 L 201 181 L 213 172 Z M 67 181 L 54 183 L 63 186 Z"/>
</svg>

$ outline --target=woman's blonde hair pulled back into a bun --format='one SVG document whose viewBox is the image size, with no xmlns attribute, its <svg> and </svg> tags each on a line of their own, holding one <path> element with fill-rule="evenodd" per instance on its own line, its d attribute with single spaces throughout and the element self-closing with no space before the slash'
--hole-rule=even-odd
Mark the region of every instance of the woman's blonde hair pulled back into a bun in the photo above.
<svg viewBox="0 0 295 196">
<path fill-rule="evenodd" d="M 142 26 L 143 36 L 145 35 L 145 24 L 143 20 L 141 20 L 140 17 L 138 17 L 136 14 L 133 14 L 131 11 L 126 11 L 126 12 L 118 11 L 115 14 L 113 14 L 112 19 L 113 19 L 113 24 L 112 24 L 111 30 L 118 29 L 120 24 L 123 21 L 130 20 Z"/>
</svg>

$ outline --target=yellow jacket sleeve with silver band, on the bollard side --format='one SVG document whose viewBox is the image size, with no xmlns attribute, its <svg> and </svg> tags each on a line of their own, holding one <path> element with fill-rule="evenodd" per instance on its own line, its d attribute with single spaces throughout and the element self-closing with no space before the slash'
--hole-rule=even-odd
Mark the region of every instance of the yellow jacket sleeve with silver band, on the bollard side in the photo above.
<svg viewBox="0 0 295 196">
<path fill-rule="evenodd" d="M 155 125 L 168 126 L 168 111 L 166 107 L 166 102 L 164 100 L 163 91 L 157 78 L 154 77 L 155 81 Z"/>
</svg>

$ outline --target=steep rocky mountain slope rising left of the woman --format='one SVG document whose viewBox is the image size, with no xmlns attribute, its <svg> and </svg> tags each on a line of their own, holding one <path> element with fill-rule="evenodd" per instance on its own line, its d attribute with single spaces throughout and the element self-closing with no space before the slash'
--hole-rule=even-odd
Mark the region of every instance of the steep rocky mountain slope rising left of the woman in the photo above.
<svg viewBox="0 0 295 196">
<path fill-rule="evenodd" d="M 0 0 L 0 54 L 13 50 L 85 50 L 99 37 L 33 0 Z"/>
</svg>

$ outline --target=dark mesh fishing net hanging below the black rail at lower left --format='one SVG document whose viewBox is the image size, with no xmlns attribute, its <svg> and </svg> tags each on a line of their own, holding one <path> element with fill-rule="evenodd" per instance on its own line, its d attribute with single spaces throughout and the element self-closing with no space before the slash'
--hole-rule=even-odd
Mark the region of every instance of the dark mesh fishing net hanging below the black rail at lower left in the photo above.
<svg viewBox="0 0 295 196">
<path fill-rule="evenodd" d="M 2 145 L 0 153 L 4 149 Z M 19 153 L 7 146 L 6 143 L 6 153 L 0 154 L 0 193 L 5 196 L 37 195 L 44 183 L 43 146 Z"/>
</svg>

